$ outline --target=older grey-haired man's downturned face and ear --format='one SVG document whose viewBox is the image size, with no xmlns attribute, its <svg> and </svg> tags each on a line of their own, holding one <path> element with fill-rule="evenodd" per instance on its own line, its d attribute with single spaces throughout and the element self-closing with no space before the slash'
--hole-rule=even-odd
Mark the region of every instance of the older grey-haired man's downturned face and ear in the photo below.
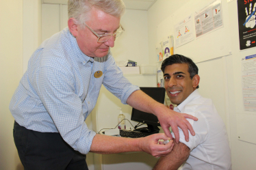
<svg viewBox="0 0 256 170">
<path fill-rule="evenodd" d="M 114 33 L 120 25 L 120 18 L 92 8 L 90 10 L 90 20 L 86 25 L 99 35 Z M 88 29 L 80 27 L 74 22 L 74 18 L 68 19 L 68 28 L 72 35 L 75 36 L 80 50 L 89 57 L 104 57 L 107 55 L 109 48 L 114 46 L 114 37 L 112 36 L 107 42 L 97 42 L 97 36 Z"/>
</svg>

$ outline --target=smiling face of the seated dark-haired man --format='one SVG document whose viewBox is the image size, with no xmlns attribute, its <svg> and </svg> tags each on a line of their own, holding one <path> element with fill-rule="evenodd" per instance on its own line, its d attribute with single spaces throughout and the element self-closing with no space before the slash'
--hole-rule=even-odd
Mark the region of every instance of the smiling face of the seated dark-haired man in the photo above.
<svg viewBox="0 0 256 170">
<path fill-rule="evenodd" d="M 174 63 L 164 69 L 164 87 L 172 104 L 181 104 L 199 85 L 200 77 L 190 78 L 188 64 Z"/>
</svg>

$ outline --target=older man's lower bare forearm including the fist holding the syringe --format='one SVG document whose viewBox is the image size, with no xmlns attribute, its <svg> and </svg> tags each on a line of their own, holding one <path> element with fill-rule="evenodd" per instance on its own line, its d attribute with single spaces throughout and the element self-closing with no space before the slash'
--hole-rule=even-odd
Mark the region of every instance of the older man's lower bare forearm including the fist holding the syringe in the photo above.
<svg viewBox="0 0 256 170">
<path fill-rule="evenodd" d="M 120 152 L 146 152 L 152 156 L 165 156 L 172 150 L 172 141 L 166 145 L 158 145 L 158 140 L 169 140 L 164 133 L 152 134 L 148 137 L 130 139 L 123 137 L 110 137 L 96 134 L 92 139 L 90 152 L 97 154 L 117 154 Z"/>
</svg>

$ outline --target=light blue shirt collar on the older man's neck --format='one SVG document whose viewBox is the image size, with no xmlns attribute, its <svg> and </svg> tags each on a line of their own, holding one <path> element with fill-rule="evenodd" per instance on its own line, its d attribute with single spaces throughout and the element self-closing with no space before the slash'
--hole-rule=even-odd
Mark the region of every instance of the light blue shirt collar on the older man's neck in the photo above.
<svg viewBox="0 0 256 170">
<path fill-rule="evenodd" d="M 73 46 L 75 47 L 75 53 L 77 53 L 77 56 L 79 57 L 79 60 L 85 65 L 86 63 L 88 63 L 88 61 L 90 61 L 91 63 L 94 62 L 94 58 L 92 57 L 88 57 L 87 55 L 85 55 L 79 48 L 78 44 L 77 44 L 77 40 L 75 39 L 75 37 L 72 35 L 71 31 L 69 31 L 69 37 L 71 38 L 71 43 L 73 44 Z"/>
</svg>

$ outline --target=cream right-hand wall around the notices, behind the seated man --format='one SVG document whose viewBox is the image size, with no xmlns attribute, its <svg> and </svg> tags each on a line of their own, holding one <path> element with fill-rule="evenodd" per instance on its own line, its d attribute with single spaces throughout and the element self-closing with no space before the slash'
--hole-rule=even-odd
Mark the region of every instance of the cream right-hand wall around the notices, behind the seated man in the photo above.
<svg viewBox="0 0 256 170">
<path fill-rule="evenodd" d="M 162 22 L 167 23 L 165 30 L 172 33 L 174 24 L 177 20 L 182 20 L 188 14 L 193 11 L 199 10 L 200 6 L 211 1 L 205 0 L 183 0 L 183 1 L 166 1 L 158 0 L 148 11 L 148 28 L 149 28 L 149 62 L 155 63 L 155 43 L 159 41 L 159 33 L 157 33 L 157 27 L 161 27 Z M 238 140 L 238 122 L 237 115 L 244 113 L 250 114 L 244 111 L 242 101 L 242 83 L 241 83 L 241 59 L 242 57 L 253 55 L 256 53 L 255 48 L 248 49 L 246 51 L 240 51 L 239 49 L 239 37 L 238 37 L 238 7 L 237 1 L 222 0 L 222 10 L 224 18 L 224 27 L 209 33 L 203 38 L 209 38 L 209 40 L 220 42 L 228 42 L 229 44 L 222 44 L 225 53 L 231 51 L 231 55 L 221 56 L 220 53 L 209 53 L 205 50 L 212 44 L 201 44 L 201 39 L 194 40 L 184 46 L 175 48 L 175 53 L 192 56 L 195 61 L 201 61 L 197 63 L 199 66 L 199 75 L 201 76 L 201 83 L 199 84 L 199 91 L 202 96 L 212 98 L 216 109 L 222 116 L 227 130 L 229 133 L 229 140 L 231 144 L 231 156 L 234 170 L 240 169 L 255 169 L 256 167 L 256 145 L 245 141 Z M 194 14 L 194 13 L 192 13 Z M 172 19 L 171 19 L 172 18 Z M 175 22 L 173 22 L 175 20 Z M 169 23 L 169 25 L 168 25 Z M 163 29 L 163 28 L 160 28 Z M 163 30 L 164 30 L 163 29 Z M 227 32 L 228 31 L 228 32 Z M 216 33 L 225 33 L 225 35 L 216 35 Z M 212 38 L 212 35 L 216 36 Z M 161 37 L 160 37 L 161 38 Z M 199 46 L 191 49 L 190 46 L 198 44 Z M 221 44 L 221 43 L 220 43 Z M 220 45 L 219 44 L 219 45 Z M 203 47 L 207 48 L 203 48 Z M 216 52 L 222 50 L 221 48 L 213 48 Z M 200 50 L 200 51 L 199 51 Z M 200 53 L 199 53 L 199 52 Z M 208 53 L 208 54 L 207 54 Z M 200 54 L 200 56 L 196 56 Z M 201 54 L 216 55 L 216 59 L 210 59 L 203 61 Z M 200 59 L 199 59 L 200 58 Z M 252 131 L 251 135 L 255 135 L 255 128 L 251 124 L 252 128 L 248 130 Z M 254 132 L 253 132 L 254 131 Z"/>
</svg>

